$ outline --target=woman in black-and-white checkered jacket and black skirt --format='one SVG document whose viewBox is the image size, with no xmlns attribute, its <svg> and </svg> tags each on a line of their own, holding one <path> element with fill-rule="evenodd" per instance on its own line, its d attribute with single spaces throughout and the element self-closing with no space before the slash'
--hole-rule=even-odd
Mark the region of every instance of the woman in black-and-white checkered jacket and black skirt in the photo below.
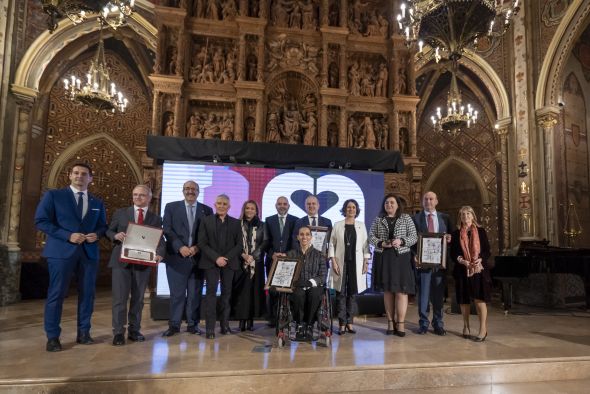
<svg viewBox="0 0 590 394">
<path fill-rule="evenodd" d="M 410 247 L 418 240 L 414 221 L 402 212 L 401 201 L 394 194 L 383 198 L 381 212 L 371 225 L 369 242 L 373 255 L 373 287 L 383 291 L 387 314 L 387 335 L 406 335 L 405 319 L 408 294 L 415 293 L 415 277 Z"/>
</svg>

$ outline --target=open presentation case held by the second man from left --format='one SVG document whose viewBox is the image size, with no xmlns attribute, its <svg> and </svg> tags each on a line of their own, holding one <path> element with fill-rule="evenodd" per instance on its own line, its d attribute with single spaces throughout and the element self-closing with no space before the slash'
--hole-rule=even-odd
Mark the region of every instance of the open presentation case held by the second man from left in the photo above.
<svg viewBox="0 0 590 394">
<path fill-rule="evenodd" d="M 162 238 L 162 228 L 129 223 L 119 261 L 129 264 L 157 266 L 156 250 Z"/>
</svg>

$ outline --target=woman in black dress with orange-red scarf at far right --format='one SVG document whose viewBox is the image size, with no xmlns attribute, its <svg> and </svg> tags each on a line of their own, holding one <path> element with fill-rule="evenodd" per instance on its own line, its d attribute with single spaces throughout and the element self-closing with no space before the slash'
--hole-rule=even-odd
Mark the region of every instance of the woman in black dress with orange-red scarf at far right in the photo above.
<svg viewBox="0 0 590 394">
<path fill-rule="evenodd" d="M 479 227 L 477 217 L 470 206 L 459 210 L 459 229 L 451 235 L 451 258 L 455 261 L 453 277 L 457 303 L 463 315 L 463 337 L 483 342 L 488 336 L 486 302 L 491 301 L 492 279 L 488 269 L 490 243 L 486 231 Z M 475 303 L 479 317 L 479 334 L 471 337 L 469 314 L 471 301 Z"/>
</svg>

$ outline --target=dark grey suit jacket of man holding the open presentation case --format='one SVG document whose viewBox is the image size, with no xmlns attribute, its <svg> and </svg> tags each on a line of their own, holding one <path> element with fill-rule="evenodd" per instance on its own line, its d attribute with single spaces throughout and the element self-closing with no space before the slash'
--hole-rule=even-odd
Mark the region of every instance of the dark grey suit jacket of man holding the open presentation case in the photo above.
<svg viewBox="0 0 590 394">
<path fill-rule="evenodd" d="M 135 223 L 135 206 L 130 206 L 127 208 L 120 208 L 115 211 L 113 217 L 111 219 L 111 223 L 109 224 L 109 228 L 106 232 L 106 236 L 113 242 L 115 247 L 113 248 L 113 252 L 111 253 L 111 258 L 109 260 L 109 267 L 113 268 L 116 266 L 126 267 L 128 263 L 119 261 L 119 257 L 121 256 L 121 246 L 123 243 L 115 239 L 115 235 L 120 232 L 126 232 L 127 226 L 129 223 Z M 155 215 L 144 208 L 145 215 L 143 219 L 143 224 L 146 226 L 152 227 L 162 227 L 162 218 L 159 215 Z M 158 256 L 164 257 L 166 253 L 166 245 L 164 243 L 164 237 L 160 239 L 160 243 L 158 244 L 158 249 L 156 251 Z"/>
</svg>

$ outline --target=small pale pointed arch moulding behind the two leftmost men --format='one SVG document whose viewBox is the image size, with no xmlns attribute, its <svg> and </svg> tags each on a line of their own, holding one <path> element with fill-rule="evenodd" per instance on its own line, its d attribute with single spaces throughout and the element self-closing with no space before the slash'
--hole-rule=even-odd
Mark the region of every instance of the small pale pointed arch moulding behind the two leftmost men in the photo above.
<svg viewBox="0 0 590 394">
<path fill-rule="evenodd" d="M 117 149 L 117 151 L 119 151 L 121 156 L 123 156 L 125 158 L 125 161 L 129 165 L 129 168 L 131 169 L 131 171 L 133 172 L 133 175 L 135 176 L 136 182 L 141 183 L 141 181 L 143 179 L 143 176 L 141 175 L 141 169 L 139 168 L 139 166 L 135 162 L 133 156 L 127 151 L 127 149 L 125 149 L 124 146 L 122 146 L 117 140 L 115 140 L 110 135 L 108 135 L 106 133 L 98 133 L 98 134 L 94 134 L 90 137 L 82 138 L 81 140 L 73 142 L 70 146 L 68 146 L 68 148 L 66 150 L 64 150 L 64 152 L 59 156 L 59 158 L 57 160 L 55 160 L 55 162 L 51 166 L 51 169 L 49 170 L 49 176 L 47 177 L 47 187 L 50 189 L 57 187 L 57 180 L 58 180 L 58 177 L 60 175 L 60 171 L 63 168 L 63 166 L 82 147 L 90 145 L 91 143 L 96 142 L 98 140 L 106 140 L 108 143 L 110 143 L 112 146 L 114 146 L 115 149 Z"/>
</svg>

